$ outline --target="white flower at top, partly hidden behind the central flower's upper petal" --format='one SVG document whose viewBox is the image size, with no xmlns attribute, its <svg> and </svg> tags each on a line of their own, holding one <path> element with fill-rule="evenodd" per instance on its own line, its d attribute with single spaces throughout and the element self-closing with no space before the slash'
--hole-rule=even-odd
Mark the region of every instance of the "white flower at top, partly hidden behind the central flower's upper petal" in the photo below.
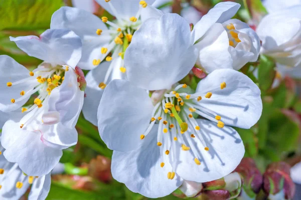
<svg viewBox="0 0 301 200">
<path fill-rule="evenodd" d="M 61 7 L 51 19 L 51 28 L 68 28 L 82 39 L 83 52 L 78 63 L 83 69 L 92 69 L 86 76 L 87 89 L 83 114 L 97 124 L 97 110 L 103 89 L 112 79 L 125 79 L 123 52 L 132 34 L 141 25 L 141 8 L 155 0 L 97 0 L 116 20 L 102 19 L 74 7 Z M 107 28 L 106 24 L 109 25 Z M 112 55 L 108 54 L 112 52 Z M 103 61 L 102 63 L 100 63 Z M 100 65 L 99 65 L 100 64 Z M 99 65 L 99 66 L 98 66 Z"/>
</svg>

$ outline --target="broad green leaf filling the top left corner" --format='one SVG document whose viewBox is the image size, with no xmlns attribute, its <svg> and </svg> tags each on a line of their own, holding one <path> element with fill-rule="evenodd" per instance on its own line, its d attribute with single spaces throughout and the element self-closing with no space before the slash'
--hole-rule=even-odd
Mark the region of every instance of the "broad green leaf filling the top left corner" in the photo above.
<svg viewBox="0 0 301 200">
<path fill-rule="evenodd" d="M 50 26 L 62 0 L 0 0 L 0 30 L 37 30 Z"/>
</svg>

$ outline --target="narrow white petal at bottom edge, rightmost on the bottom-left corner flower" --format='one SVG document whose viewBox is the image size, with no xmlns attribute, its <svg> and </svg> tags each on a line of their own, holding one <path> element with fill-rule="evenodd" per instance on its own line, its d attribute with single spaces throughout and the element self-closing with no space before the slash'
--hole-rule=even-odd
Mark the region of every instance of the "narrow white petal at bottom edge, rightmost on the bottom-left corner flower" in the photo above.
<svg viewBox="0 0 301 200">
<path fill-rule="evenodd" d="M 30 200 L 44 200 L 46 199 L 51 184 L 50 173 L 34 180 L 34 183 L 31 187 L 28 198 Z"/>
</svg>

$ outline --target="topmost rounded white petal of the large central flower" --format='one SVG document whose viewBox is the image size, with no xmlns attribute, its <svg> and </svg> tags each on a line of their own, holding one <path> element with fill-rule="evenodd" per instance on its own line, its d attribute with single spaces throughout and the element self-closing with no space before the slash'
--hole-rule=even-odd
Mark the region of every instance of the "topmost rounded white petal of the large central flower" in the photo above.
<svg viewBox="0 0 301 200">
<path fill-rule="evenodd" d="M 146 20 L 124 55 L 128 80 L 147 90 L 169 88 L 189 73 L 196 59 L 190 26 L 174 13 Z"/>
</svg>

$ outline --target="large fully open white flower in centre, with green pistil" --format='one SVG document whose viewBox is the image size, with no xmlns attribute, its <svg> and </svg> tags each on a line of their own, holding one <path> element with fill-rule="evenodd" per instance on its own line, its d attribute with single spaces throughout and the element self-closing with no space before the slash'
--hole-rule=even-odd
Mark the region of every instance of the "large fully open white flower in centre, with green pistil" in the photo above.
<svg viewBox="0 0 301 200">
<path fill-rule="evenodd" d="M 112 80 L 103 92 L 98 130 L 114 150 L 113 177 L 134 192 L 160 197 L 183 179 L 218 179 L 243 157 L 240 136 L 227 125 L 250 128 L 257 122 L 260 90 L 233 69 L 213 71 L 196 92 L 186 84 L 176 86 L 197 56 L 184 18 L 165 14 L 149 19 L 125 52 L 129 81 Z M 163 91 L 155 92 L 152 101 L 146 90 L 157 89 Z"/>
</svg>

